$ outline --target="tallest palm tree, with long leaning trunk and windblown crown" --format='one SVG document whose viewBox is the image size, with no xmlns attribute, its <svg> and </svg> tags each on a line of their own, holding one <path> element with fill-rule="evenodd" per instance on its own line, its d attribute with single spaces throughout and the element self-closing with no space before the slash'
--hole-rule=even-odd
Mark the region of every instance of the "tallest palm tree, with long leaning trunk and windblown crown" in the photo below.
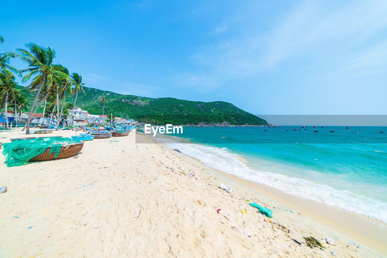
<svg viewBox="0 0 387 258">
<path fill-rule="evenodd" d="M 22 79 L 22 82 L 29 81 L 33 76 L 31 84 L 29 85 L 30 90 L 38 89 L 36 91 L 36 95 L 34 97 L 34 101 L 32 103 L 30 113 L 27 120 L 27 130 L 26 134 L 29 134 L 29 124 L 31 122 L 31 118 L 33 116 L 33 109 L 40 95 L 40 91 L 45 84 L 47 79 L 50 79 L 53 75 L 61 76 L 67 78 L 68 75 L 56 70 L 53 67 L 53 59 L 56 56 L 55 50 L 50 47 L 44 48 L 42 46 L 38 46 L 35 43 L 28 43 L 25 45 L 29 50 L 24 50 L 22 48 L 17 48 L 16 53 L 9 53 L 12 57 L 19 58 L 23 62 L 27 63 L 29 68 L 21 70 L 21 72 L 28 72 Z M 48 78 L 47 78 L 48 77 Z M 52 80 L 51 80 L 52 81 Z"/>
</svg>

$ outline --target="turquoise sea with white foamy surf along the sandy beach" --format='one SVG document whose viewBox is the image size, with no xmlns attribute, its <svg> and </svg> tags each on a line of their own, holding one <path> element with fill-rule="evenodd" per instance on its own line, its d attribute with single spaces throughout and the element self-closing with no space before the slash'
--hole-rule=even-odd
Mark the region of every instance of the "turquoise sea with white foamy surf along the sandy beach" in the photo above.
<svg viewBox="0 0 387 258">
<path fill-rule="evenodd" d="M 170 147 L 207 166 L 387 222 L 383 130 L 387 132 L 386 127 L 354 126 L 184 127 L 183 134 L 167 138 Z"/>
</svg>

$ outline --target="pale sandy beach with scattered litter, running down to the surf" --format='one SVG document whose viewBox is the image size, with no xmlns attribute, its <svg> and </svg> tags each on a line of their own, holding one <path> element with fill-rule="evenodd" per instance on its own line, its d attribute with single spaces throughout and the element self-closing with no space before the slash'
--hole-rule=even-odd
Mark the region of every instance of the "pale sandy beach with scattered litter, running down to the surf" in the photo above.
<svg viewBox="0 0 387 258">
<path fill-rule="evenodd" d="M 47 136 L 58 135 L 75 133 Z M 20 129 L 0 132 L 0 142 L 18 137 L 25 137 Z M 19 167 L 2 162 L 0 186 L 8 191 L 0 194 L 0 257 L 380 258 L 387 254 L 382 222 L 249 183 L 144 135 L 136 137 L 137 143 L 134 132 L 85 142 L 77 158 Z M 233 191 L 220 189 L 221 183 Z M 247 200 L 265 203 L 273 218 Z M 226 210 L 233 222 L 217 214 L 218 209 Z M 316 215 L 322 212 L 326 214 Z M 240 231 L 232 227 L 234 223 Z M 374 239 L 366 237 L 372 232 Z M 331 236 L 336 245 L 311 249 L 305 245 L 306 236 Z"/>
</svg>

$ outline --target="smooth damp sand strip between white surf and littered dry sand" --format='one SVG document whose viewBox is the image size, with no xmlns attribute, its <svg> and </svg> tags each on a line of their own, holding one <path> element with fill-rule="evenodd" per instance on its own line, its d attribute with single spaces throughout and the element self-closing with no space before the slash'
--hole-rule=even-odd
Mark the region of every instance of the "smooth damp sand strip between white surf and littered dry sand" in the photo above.
<svg viewBox="0 0 387 258">
<path fill-rule="evenodd" d="M 155 142 L 158 142 L 158 144 L 164 145 L 166 148 L 169 148 L 166 144 L 159 142 L 158 140 L 154 140 L 149 135 L 144 136 Z M 301 198 L 289 193 L 284 193 L 283 191 L 272 186 L 267 186 L 259 182 L 249 181 L 233 174 L 228 174 L 219 169 L 209 167 L 195 157 L 191 157 L 184 153 L 182 154 L 196 160 L 197 162 L 200 162 L 202 166 L 205 166 L 219 173 L 223 177 L 223 181 L 227 182 L 224 184 L 230 185 L 233 189 L 233 185 L 238 185 L 239 188 L 248 188 L 250 192 L 254 193 L 254 195 L 259 195 L 260 201 L 263 201 L 265 204 L 275 203 L 275 205 L 268 205 L 267 207 L 271 208 L 273 213 L 275 211 L 281 213 L 281 217 L 283 217 L 282 219 L 285 219 L 284 217 L 286 217 L 286 215 L 294 214 L 283 210 L 277 210 L 272 207 L 279 206 L 280 208 L 288 210 L 289 207 L 291 207 L 290 210 L 294 211 L 295 214 L 301 213 L 305 215 L 309 219 L 313 220 L 313 222 L 321 224 L 322 226 L 335 231 L 337 236 L 341 235 L 348 237 L 349 239 L 358 242 L 357 246 L 367 246 L 387 256 L 387 246 L 385 243 L 380 241 L 380 239 L 387 238 L 387 224 L 380 220 L 372 219 L 370 217 L 366 217 L 365 215 L 356 214 L 336 206 Z M 296 220 L 294 216 L 292 219 Z"/>
</svg>

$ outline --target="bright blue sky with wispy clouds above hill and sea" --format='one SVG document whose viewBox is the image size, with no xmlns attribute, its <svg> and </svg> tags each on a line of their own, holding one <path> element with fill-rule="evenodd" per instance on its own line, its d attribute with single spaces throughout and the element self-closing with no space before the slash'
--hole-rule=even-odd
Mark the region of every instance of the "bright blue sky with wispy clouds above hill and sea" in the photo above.
<svg viewBox="0 0 387 258">
<path fill-rule="evenodd" d="M 387 1 L 111 2 L 3 2 L 0 52 L 51 46 L 86 86 L 122 94 L 387 114 Z"/>
</svg>

